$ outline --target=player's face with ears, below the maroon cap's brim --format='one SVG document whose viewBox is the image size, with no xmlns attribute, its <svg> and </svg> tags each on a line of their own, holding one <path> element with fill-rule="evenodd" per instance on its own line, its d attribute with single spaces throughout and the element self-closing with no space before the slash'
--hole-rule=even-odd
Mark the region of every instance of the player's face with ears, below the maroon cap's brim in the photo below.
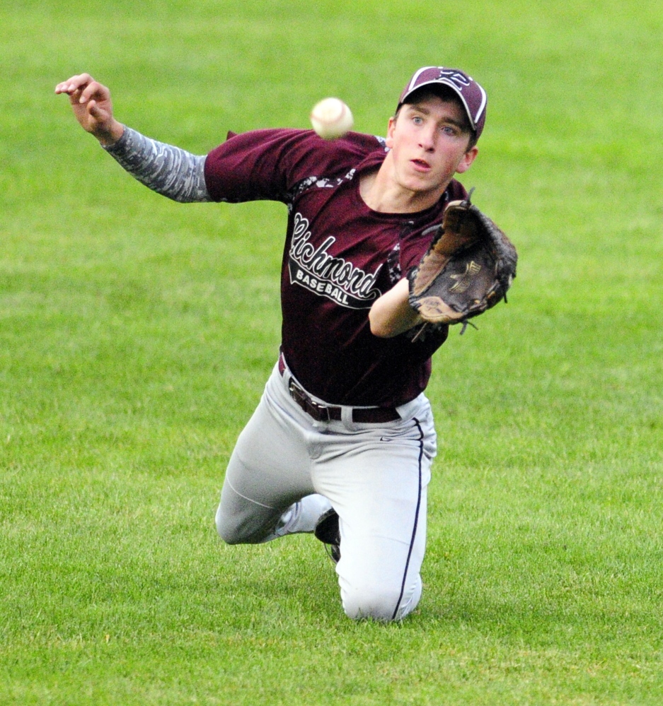
<svg viewBox="0 0 663 706">
<path fill-rule="evenodd" d="M 437 201 L 454 174 L 466 172 L 476 157 L 476 147 L 468 150 L 465 124 L 456 102 L 430 96 L 405 103 L 387 131 L 391 174 L 398 187 L 431 201 L 429 205 Z"/>
</svg>

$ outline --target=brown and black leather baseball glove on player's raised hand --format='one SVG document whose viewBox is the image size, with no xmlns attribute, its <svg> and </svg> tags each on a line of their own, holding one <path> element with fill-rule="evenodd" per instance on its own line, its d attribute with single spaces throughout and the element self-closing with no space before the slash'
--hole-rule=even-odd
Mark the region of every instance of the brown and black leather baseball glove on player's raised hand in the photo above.
<svg viewBox="0 0 663 706">
<path fill-rule="evenodd" d="M 506 301 L 516 276 L 516 249 L 471 204 L 471 195 L 446 207 L 428 251 L 408 273 L 410 306 L 425 322 L 466 324 L 500 300 Z"/>
</svg>

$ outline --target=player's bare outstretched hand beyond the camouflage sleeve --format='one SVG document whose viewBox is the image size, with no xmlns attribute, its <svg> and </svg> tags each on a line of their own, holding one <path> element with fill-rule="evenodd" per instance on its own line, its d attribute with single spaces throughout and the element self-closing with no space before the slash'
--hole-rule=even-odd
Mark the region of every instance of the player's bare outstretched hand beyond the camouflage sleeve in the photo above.
<svg viewBox="0 0 663 706">
<path fill-rule="evenodd" d="M 95 81 L 89 73 L 71 76 L 55 86 L 55 93 L 67 93 L 71 110 L 83 130 L 93 134 L 104 146 L 122 137 L 124 127 L 113 117 L 110 90 Z"/>
</svg>

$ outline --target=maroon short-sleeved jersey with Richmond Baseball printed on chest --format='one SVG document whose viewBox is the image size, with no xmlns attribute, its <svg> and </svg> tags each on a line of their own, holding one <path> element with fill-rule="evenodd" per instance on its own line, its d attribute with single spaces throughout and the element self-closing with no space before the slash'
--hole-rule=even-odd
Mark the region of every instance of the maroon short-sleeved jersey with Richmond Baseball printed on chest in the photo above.
<svg viewBox="0 0 663 706">
<path fill-rule="evenodd" d="M 381 139 L 358 133 L 327 142 L 312 131 L 259 130 L 229 136 L 205 163 L 214 201 L 287 204 L 282 352 L 296 379 L 330 404 L 414 399 L 448 334 L 446 326 L 417 339 L 417 327 L 392 339 L 371 334 L 373 302 L 419 262 L 446 204 L 466 196 L 453 180 L 426 211 L 372 211 L 359 195 L 359 178 L 379 167 L 386 151 Z"/>
</svg>

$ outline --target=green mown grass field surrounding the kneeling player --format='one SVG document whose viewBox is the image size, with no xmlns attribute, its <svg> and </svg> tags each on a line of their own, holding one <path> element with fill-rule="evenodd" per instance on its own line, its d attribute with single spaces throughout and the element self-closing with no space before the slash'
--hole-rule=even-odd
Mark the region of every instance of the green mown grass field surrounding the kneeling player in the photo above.
<svg viewBox="0 0 663 706">
<path fill-rule="evenodd" d="M 663 15 L 652 0 L 17 0 L 0 11 L 0 703 L 663 702 Z M 463 178 L 512 237 L 434 358 L 425 593 L 353 623 L 310 536 L 224 546 L 279 343 L 285 209 L 173 204 L 75 124 L 206 153 L 418 66 L 489 93 Z"/>
</svg>

